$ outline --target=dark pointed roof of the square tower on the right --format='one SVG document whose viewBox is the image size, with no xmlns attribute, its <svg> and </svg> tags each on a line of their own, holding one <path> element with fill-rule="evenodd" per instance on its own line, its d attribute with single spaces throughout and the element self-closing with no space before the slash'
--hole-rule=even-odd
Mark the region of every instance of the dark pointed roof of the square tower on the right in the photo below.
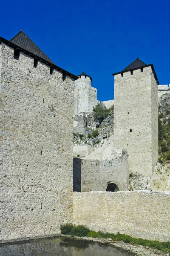
<svg viewBox="0 0 170 256">
<path fill-rule="evenodd" d="M 120 72 L 117 72 L 117 73 L 113 73 L 112 75 L 115 76 L 115 75 L 118 75 L 118 74 L 121 74 L 121 73 L 124 73 L 124 72 L 128 72 L 128 71 L 131 71 L 131 70 L 137 70 L 139 68 L 142 68 L 142 67 L 151 67 L 152 70 L 153 70 L 153 75 L 155 76 L 155 80 L 156 80 L 156 83 L 159 84 L 159 81 L 158 81 L 158 78 L 156 76 L 156 72 L 155 72 L 155 69 L 153 67 L 153 64 L 145 64 L 143 61 L 139 60 L 139 58 L 137 57 L 135 61 L 133 61 L 132 63 L 130 63 L 130 65 L 128 65 L 127 67 L 124 68 L 124 70 L 120 71 Z"/>
</svg>

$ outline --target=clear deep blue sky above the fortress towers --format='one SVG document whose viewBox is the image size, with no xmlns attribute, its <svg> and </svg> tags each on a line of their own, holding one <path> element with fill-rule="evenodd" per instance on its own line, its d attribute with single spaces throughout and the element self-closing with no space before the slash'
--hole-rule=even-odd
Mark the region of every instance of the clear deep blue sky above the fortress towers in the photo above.
<svg viewBox="0 0 170 256">
<path fill-rule="evenodd" d="M 170 84 L 169 0 L 1 1 L 0 36 L 21 29 L 59 67 L 93 78 L 100 101 L 113 99 L 114 77 L 139 57 Z"/>
</svg>

